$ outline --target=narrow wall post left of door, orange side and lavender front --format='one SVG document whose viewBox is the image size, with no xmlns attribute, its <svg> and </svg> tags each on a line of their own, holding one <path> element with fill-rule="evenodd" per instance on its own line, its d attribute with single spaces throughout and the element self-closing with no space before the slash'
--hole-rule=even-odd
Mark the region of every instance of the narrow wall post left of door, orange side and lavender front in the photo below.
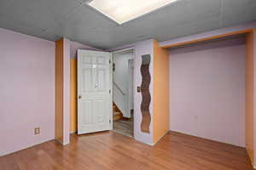
<svg viewBox="0 0 256 170">
<path fill-rule="evenodd" d="M 61 144 L 69 143 L 69 40 L 55 42 L 55 139 Z"/>
</svg>

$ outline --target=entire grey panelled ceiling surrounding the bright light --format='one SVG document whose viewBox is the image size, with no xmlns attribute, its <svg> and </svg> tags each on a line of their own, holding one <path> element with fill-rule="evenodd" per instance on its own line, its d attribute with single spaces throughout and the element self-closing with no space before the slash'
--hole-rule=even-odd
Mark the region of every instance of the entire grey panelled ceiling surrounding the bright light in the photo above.
<svg viewBox="0 0 256 170">
<path fill-rule="evenodd" d="M 0 0 L 1 28 L 52 41 L 67 37 L 102 49 L 148 38 L 166 41 L 252 20 L 256 0 L 179 0 L 123 25 L 90 8 L 86 0 Z"/>
</svg>

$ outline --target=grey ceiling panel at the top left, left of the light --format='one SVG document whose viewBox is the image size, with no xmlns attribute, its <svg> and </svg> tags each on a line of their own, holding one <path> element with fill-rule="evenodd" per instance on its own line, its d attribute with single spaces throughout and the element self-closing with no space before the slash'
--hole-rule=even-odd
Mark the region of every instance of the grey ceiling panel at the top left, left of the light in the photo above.
<svg viewBox="0 0 256 170">
<path fill-rule="evenodd" d="M 75 0 L 22 0 L 15 1 L 4 15 L 47 30 L 78 6 Z"/>
</svg>

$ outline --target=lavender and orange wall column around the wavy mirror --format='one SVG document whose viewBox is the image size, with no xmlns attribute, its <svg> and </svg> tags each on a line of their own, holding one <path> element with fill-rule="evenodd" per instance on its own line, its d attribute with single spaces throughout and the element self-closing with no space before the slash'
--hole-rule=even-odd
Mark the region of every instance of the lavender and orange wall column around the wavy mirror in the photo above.
<svg viewBox="0 0 256 170">
<path fill-rule="evenodd" d="M 151 61 L 149 65 L 149 73 L 151 82 L 149 85 L 149 93 L 151 94 L 151 102 L 149 112 L 151 122 L 149 133 L 143 133 L 140 129 L 142 121 L 141 114 L 135 114 L 135 139 L 146 144 L 156 144 L 166 133 L 169 132 L 169 51 L 161 48 L 159 42 L 149 39 L 136 44 L 135 58 L 135 75 L 140 75 L 142 65 L 142 56 L 150 55 Z M 142 78 L 137 76 L 135 79 L 135 87 L 141 84 Z M 135 95 L 135 111 L 141 113 L 140 108 L 141 96 L 139 93 Z M 140 116 L 139 116 L 140 115 Z"/>
</svg>

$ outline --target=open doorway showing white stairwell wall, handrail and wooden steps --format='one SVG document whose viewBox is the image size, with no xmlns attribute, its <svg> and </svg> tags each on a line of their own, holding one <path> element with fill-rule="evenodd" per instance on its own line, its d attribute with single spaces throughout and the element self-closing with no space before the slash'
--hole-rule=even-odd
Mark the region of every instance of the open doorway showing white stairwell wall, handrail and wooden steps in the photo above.
<svg viewBox="0 0 256 170">
<path fill-rule="evenodd" d="M 133 137 L 133 49 L 113 53 L 113 131 Z"/>
</svg>

